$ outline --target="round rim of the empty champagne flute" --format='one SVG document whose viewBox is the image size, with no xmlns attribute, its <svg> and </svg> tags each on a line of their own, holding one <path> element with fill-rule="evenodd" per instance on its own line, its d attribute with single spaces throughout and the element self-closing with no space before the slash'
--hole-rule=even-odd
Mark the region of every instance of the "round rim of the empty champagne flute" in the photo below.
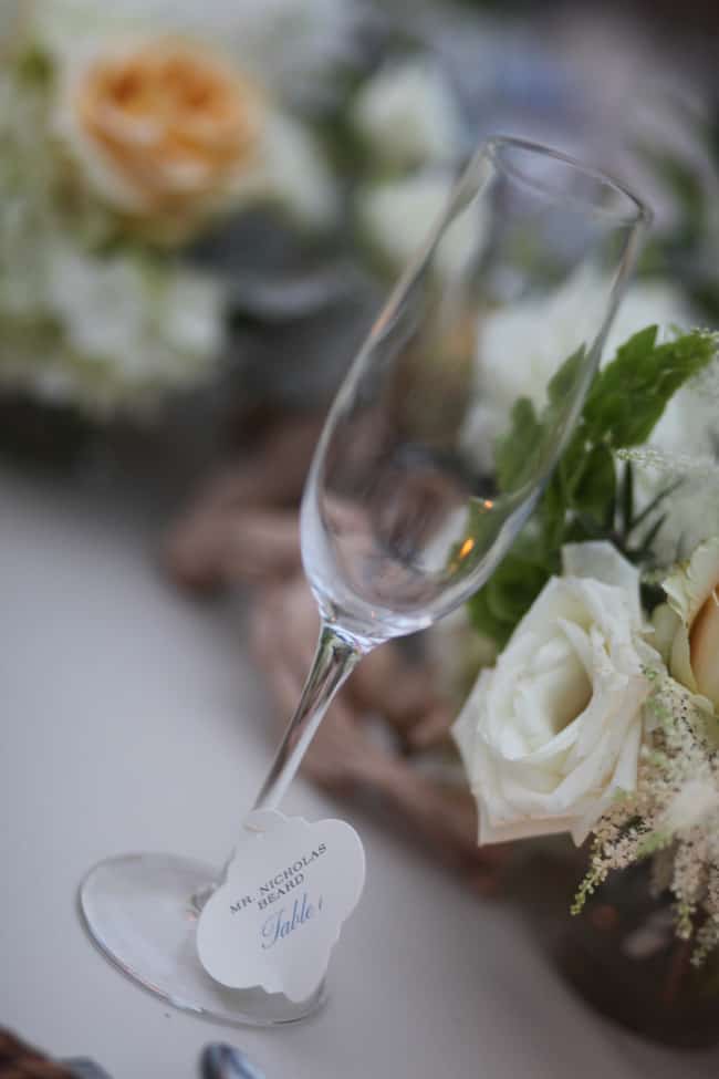
<svg viewBox="0 0 719 1079">
<path fill-rule="evenodd" d="M 581 196 L 575 195 L 564 195 L 563 197 L 567 203 L 574 203 L 588 207 L 594 214 L 601 217 L 611 218 L 618 224 L 642 224 L 644 226 L 649 226 L 652 224 L 654 216 L 652 208 L 642 198 L 639 198 L 638 195 L 635 195 L 632 188 L 627 187 L 626 184 L 623 184 L 621 180 L 609 176 L 608 173 L 605 173 L 600 168 L 595 168 L 592 165 L 586 165 L 576 157 L 564 154 L 551 146 L 545 146 L 542 143 L 533 143 L 525 138 L 515 138 L 513 135 L 490 135 L 479 147 L 478 157 L 486 155 L 506 176 L 536 191 L 541 191 L 544 195 L 556 198 L 558 191 L 550 184 L 544 184 L 541 179 L 523 173 L 521 168 L 517 168 L 507 162 L 501 154 L 501 151 L 504 147 L 522 151 L 528 154 L 535 154 L 538 156 L 548 157 L 555 162 L 560 162 L 562 165 L 566 165 L 569 168 L 572 168 L 584 176 L 588 176 L 602 186 L 614 191 L 614 194 L 621 196 L 622 200 L 625 204 L 628 204 L 628 206 L 626 212 L 622 212 L 621 209 L 614 210 L 606 206 L 600 206 L 591 198 L 582 198 Z"/>
</svg>

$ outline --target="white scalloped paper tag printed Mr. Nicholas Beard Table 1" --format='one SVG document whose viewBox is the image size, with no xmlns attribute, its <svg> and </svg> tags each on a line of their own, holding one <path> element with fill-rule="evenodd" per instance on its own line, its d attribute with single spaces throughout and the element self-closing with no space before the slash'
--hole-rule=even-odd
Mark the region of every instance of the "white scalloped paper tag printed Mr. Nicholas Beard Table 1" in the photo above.
<svg viewBox="0 0 719 1079">
<path fill-rule="evenodd" d="M 342 820 L 250 813 L 225 883 L 207 901 L 197 951 L 210 977 L 305 1000 L 357 905 L 365 855 Z"/>
</svg>

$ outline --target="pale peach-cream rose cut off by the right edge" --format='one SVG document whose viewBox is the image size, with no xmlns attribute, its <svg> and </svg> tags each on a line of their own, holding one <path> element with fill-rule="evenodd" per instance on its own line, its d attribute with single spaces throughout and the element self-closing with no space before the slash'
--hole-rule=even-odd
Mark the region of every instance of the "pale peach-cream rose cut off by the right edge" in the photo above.
<svg viewBox="0 0 719 1079">
<path fill-rule="evenodd" d="M 719 715 L 719 537 L 696 549 L 664 581 L 667 602 L 654 614 L 669 673 Z"/>
</svg>

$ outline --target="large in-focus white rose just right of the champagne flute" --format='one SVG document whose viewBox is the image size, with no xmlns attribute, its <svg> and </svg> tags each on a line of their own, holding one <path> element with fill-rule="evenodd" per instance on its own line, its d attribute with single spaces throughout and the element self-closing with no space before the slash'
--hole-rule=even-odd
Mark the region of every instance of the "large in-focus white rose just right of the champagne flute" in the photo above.
<svg viewBox="0 0 719 1079">
<path fill-rule="evenodd" d="M 454 735 L 480 842 L 571 832 L 579 844 L 636 786 L 643 673 L 638 572 L 606 542 L 567 546 L 553 578 L 483 671 Z M 591 575 L 588 575 L 591 574 Z"/>
</svg>

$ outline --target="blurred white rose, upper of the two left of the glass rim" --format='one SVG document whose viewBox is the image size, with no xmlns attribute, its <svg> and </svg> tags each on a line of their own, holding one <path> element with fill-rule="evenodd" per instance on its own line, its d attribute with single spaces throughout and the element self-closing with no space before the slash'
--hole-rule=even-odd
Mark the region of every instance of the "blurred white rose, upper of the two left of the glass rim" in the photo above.
<svg viewBox="0 0 719 1079">
<path fill-rule="evenodd" d="M 352 122 L 377 160 L 397 168 L 451 160 L 460 145 L 451 91 L 426 61 L 375 75 L 357 94 Z"/>
</svg>

